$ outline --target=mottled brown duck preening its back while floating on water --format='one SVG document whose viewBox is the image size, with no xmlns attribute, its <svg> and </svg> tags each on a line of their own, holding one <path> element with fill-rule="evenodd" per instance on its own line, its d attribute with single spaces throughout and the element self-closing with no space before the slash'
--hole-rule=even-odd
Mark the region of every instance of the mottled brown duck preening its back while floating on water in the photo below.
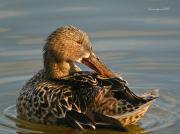
<svg viewBox="0 0 180 134">
<path fill-rule="evenodd" d="M 25 84 L 17 99 L 19 118 L 81 130 L 106 124 L 126 131 L 124 126 L 136 123 L 157 97 L 155 91 L 135 95 L 93 53 L 87 34 L 77 27 L 56 29 L 43 51 L 44 68 Z M 95 72 L 81 71 L 76 63 Z"/>
</svg>

